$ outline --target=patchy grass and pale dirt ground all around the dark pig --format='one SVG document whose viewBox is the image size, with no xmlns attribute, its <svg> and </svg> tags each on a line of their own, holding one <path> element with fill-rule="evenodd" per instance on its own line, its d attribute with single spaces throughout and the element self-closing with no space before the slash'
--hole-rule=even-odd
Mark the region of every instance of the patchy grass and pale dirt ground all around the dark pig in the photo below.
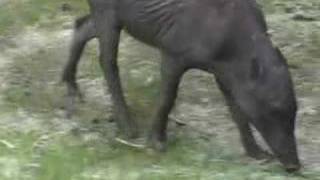
<svg viewBox="0 0 320 180">
<path fill-rule="evenodd" d="M 244 155 L 213 77 L 200 71 L 188 72 L 180 86 L 170 117 L 186 126 L 171 122 L 166 153 L 118 143 L 94 41 L 78 76 L 86 102 L 65 119 L 60 76 L 72 20 L 87 12 L 86 2 L 0 0 L 0 179 L 320 179 L 320 2 L 259 3 L 297 91 L 301 173 Z M 147 129 L 158 96 L 159 54 L 123 34 L 119 61 L 132 114 Z"/>
</svg>

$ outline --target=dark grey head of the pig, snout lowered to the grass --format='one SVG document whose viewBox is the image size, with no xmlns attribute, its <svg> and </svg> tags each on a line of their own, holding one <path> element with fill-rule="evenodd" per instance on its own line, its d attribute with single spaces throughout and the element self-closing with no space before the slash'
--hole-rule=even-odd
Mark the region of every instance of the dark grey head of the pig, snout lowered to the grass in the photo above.
<svg viewBox="0 0 320 180">
<path fill-rule="evenodd" d="M 297 102 L 287 61 L 268 37 L 256 44 L 254 125 L 286 170 L 297 171 L 301 167 L 295 138 Z"/>
</svg>

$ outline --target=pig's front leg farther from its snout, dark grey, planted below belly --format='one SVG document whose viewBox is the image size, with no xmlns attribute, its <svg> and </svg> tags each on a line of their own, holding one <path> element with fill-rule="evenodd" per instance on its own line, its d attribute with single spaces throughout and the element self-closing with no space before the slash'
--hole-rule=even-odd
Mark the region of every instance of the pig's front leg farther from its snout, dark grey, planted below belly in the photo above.
<svg viewBox="0 0 320 180">
<path fill-rule="evenodd" d="M 179 83 L 185 71 L 186 68 L 176 59 L 163 55 L 160 97 L 149 136 L 149 146 L 157 151 L 165 151 L 166 149 L 168 115 L 174 106 Z"/>
</svg>

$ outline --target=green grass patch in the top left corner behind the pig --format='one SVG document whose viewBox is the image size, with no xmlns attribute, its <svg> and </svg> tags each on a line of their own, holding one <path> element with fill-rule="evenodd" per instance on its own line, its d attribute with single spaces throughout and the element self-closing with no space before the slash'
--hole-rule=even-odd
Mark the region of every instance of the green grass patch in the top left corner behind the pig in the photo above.
<svg viewBox="0 0 320 180">
<path fill-rule="evenodd" d="M 71 4 L 72 11 L 63 12 L 62 4 Z M 25 26 L 40 23 L 42 26 L 52 27 L 59 25 L 61 15 L 79 15 L 88 9 L 85 0 L 10 0 L 0 7 L 0 35 L 15 34 Z M 42 20 L 50 19 L 49 22 Z"/>
</svg>

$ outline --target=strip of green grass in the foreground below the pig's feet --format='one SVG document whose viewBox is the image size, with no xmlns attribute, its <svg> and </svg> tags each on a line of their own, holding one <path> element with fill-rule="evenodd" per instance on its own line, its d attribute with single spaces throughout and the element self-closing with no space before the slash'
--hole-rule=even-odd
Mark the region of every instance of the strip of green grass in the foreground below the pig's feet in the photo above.
<svg viewBox="0 0 320 180">
<path fill-rule="evenodd" d="M 1 134 L 3 135 L 3 134 Z M 172 140 L 167 153 L 131 149 L 115 142 L 84 142 L 76 135 L 51 136 L 49 145 L 37 148 L 37 134 L 5 135 L 16 144 L 14 149 L 0 145 L 0 178 L 2 180 L 256 180 L 312 179 L 315 172 L 304 172 L 304 178 L 288 175 L 278 165 L 255 165 L 218 142 L 202 142 L 179 135 Z M 0 136 L 2 138 L 2 136 Z M 214 145 L 215 148 L 210 146 Z M 11 159 L 11 160 L 10 160 Z M 18 167 L 15 167 L 18 166 Z M 13 168 L 13 169 L 11 169 Z M 6 172 L 4 171 L 6 170 Z M 14 175 L 8 171 L 15 170 Z M 311 178 L 308 178 L 311 177 Z"/>
</svg>

